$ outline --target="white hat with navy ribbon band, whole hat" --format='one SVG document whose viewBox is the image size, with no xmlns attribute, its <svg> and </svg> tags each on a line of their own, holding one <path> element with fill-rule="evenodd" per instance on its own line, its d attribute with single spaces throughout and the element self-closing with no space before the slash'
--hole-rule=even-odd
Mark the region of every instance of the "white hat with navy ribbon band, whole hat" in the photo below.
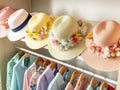
<svg viewBox="0 0 120 90">
<path fill-rule="evenodd" d="M 30 18 L 31 15 L 24 9 L 17 10 L 9 17 L 8 25 L 11 30 L 8 34 L 8 39 L 10 41 L 17 41 L 25 36 L 27 23 Z"/>
</svg>

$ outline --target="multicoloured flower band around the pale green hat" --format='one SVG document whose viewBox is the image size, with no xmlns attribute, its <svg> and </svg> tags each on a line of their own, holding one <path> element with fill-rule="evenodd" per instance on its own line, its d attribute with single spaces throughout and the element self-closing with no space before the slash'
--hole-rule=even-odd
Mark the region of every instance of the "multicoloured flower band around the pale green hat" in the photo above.
<svg viewBox="0 0 120 90">
<path fill-rule="evenodd" d="M 53 30 L 50 31 L 50 41 L 52 44 L 59 48 L 60 50 L 68 50 L 69 48 L 74 47 L 82 39 L 79 32 L 74 33 L 68 39 L 62 39 L 61 41 L 57 40 L 54 36 Z"/>
</svg>

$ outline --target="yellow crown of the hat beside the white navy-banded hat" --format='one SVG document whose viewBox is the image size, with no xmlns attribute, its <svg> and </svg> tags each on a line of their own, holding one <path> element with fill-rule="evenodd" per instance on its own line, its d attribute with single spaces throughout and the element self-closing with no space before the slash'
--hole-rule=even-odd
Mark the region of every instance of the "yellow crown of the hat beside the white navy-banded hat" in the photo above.
<svg viewBox="0 0 120 90">
<path fill-rule="evenodd" d="M 45 13 L 38 13 L 32 16 L 32 18 L 28 22 L 28 28 L 33 32 L 38 32 L 40 28 L 45 26 L 47 22 L 50 21 L 50 18 Z"/>
</svg>

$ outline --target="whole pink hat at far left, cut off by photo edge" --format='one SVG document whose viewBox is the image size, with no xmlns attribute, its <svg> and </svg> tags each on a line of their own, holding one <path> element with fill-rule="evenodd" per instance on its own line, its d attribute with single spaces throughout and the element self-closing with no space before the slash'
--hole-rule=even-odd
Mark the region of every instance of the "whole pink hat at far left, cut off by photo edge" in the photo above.
<svg viewBox="0 0 120 90">
<path fill-rule="evenodd" d="M 8 18 L 14 12 L 9 6 L 4 7 L 0 10 L 0 38 L 3 38 L 8 35 L 10 30 L 8 26 Z"/>
</svg>

